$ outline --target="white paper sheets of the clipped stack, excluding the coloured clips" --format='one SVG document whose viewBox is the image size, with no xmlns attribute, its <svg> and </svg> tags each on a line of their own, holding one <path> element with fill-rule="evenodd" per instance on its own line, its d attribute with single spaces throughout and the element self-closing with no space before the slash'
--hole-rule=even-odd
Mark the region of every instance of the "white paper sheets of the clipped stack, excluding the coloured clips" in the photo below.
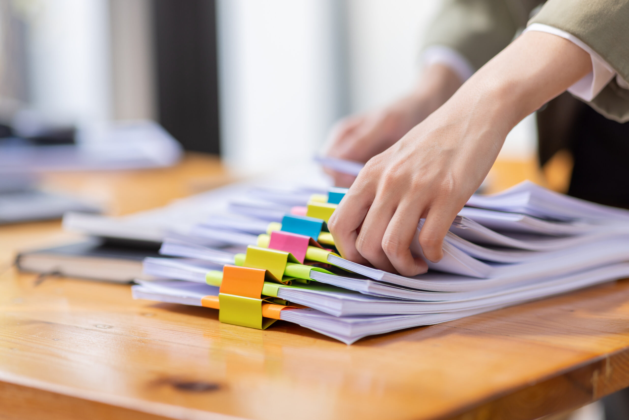
<svg viewBox="0 0 629 420">
<path fill-rule="evenodd" d="M 202 218 L 199 212 L 186 233 L 162 239 L 160 253 L 177 258 L 145 260 L 147 275 L 170 280 L 143 281 L 133 287 L 134 297 L 201 305 L 204 296 L 218 295 L 206 284 L 207 273 L 234 264 L 235 254 L 255 245 L 270 222 L 306 205 L 313 192 L 319 191 L 241 188 L 223 213 Z M 411 245 L 416 256 L 422 256 L 422 226 L 420 220 Z M 472 196 L 443 251 L 441 261 L 415 277 L 330 254 L 333 274 L 311 271 L 311 283 L 279 285 L 274 297 L 309 307 L 283 310 L 283 320 L 348 344 L 459 319 L 629 277 L 629 211 L 525 182 L 497 195 Z"/>
</svg>

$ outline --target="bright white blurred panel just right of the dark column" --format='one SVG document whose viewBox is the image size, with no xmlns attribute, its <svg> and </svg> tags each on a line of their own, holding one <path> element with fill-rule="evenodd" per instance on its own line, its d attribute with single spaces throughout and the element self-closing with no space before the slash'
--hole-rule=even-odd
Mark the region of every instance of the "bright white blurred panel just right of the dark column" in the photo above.
<svg viewBox="0 0 629 420">
<path fill-rule="evenodd" d="M 307 162 L 339 115 L 335 0 L 219 0 L 221 150 L 234 169 Z"/>
</svg>

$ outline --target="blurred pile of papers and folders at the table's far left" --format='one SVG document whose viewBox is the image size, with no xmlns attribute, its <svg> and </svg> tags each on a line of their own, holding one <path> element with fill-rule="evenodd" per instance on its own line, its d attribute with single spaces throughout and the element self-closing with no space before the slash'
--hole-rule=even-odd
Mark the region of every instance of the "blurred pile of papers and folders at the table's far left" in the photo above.
<svg viewBox="0 0 629 420">
<path fill-rule="evenodd" d="M 28 127 L 0 127 L 0 224 L 101 211 L 94 203 L 40 190 L 42 173 L 164 167 L 182 154 L 181 145 L 153 122 L 119 123 L 97 133 Z"/>
</svg>

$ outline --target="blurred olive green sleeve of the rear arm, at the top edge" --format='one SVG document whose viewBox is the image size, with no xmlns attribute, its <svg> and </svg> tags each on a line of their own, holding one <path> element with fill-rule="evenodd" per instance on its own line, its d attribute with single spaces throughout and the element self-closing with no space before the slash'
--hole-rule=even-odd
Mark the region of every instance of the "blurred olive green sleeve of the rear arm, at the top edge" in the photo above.
<svg viewBox="0 0 629 420">
<path fill-rule="evenodd" d="M 427 31 L 425 47 L 442 45 L 478 70 L 523 28 L 534 1 L 445 0 Z M 538 3 L 538 2 L 537 2 Z"/>
</svg>

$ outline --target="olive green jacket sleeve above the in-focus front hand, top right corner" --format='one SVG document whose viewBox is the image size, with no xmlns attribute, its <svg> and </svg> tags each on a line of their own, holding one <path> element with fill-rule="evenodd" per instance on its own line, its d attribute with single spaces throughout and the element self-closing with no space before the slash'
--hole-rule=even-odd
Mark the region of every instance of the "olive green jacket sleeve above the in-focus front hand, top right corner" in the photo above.
<svg viewBox="0 0 629 420">
<path fill-rule="evenodd" d="M 548 0 L 531 23 L 574 35 L 629 81 L 629 0 Z M 629 90 L 615 79 L 589 105 L 607 118 L 629 121 Z"/>
</svg>

